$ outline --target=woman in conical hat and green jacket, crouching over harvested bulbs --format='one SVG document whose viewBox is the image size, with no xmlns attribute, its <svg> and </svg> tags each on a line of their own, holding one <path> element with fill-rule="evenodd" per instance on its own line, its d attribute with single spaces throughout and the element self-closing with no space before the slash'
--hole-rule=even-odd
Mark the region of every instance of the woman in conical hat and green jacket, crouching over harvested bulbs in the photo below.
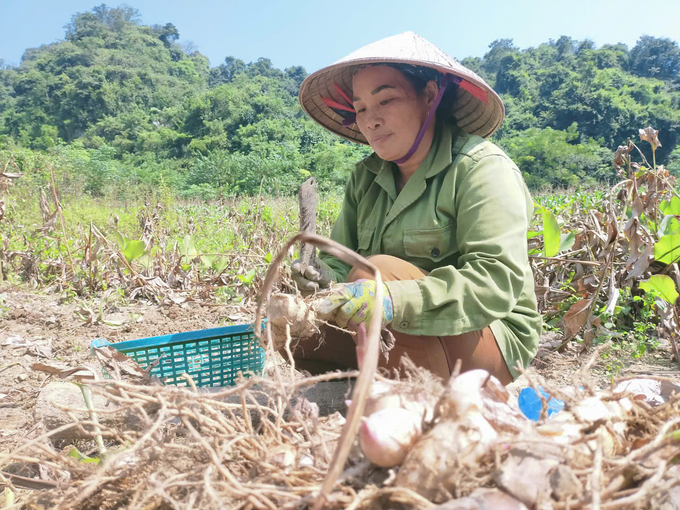
<svg viewBox="0 0 680 510">
<path fill-rule="evenodd" d="M 325 253 L 293 264 L 300 288 L 343 283 L 324 303 L 341 327 L 382 314 L 396 339 L 382 366 L 407 354 L 447 377 L 460 359 L 510 383 L 536 353 L 541 317 L 527 257 L 533 202 L 516 165 L 484 140 L 503 120 L 498 95 L 409 32 L 311 74 L 300 102 L 374 150 L 352 173 L 331 238 L 370 258 L 386 297 L 373 309 L 370 274 Z M 316 373 L 357 363 L 351 337 L 330 328 L 294 357 Z"/>
</svg>

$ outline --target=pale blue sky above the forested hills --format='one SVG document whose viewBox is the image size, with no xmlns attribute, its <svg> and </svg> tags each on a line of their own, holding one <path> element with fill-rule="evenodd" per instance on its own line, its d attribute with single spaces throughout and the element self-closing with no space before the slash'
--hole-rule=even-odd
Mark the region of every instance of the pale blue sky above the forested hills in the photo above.
<svg viewBox="0 0 680 510">
<path fill-rule="evenodd" d="M 0 58 L 58 41 L 76 12 L 97 0 L 0 0 Z M 122 2 L 121 2 L 122 3 Z M 561 35 L 632 47 L 643 34 L 680 41 L 680 0 L 129 0 L 144 24 L 173 23 L 218 65 L 227 55 L 308 72 L 389 35 L 413 30 L 455 58 L 482 56 L 490 42 L 520 48 Z M 118 5 L 111 1 L 110 6 Z M 645 9 L 645 6 L 648 6 Z"/>
</svg>

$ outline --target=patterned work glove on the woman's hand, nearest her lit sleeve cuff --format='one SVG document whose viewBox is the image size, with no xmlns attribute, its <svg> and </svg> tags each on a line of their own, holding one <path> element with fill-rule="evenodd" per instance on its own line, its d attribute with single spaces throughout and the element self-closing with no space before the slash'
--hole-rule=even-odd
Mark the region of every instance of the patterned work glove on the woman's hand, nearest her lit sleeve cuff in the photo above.
<svg viewBox="0 0 680 510">
<path fill-rule="evenodd" d="M 316 304 L 316 309 L 323 315 L 330 315 L 335 311 L 335 322 L 341 328 L 358 328 L 362 322 L 370 320 L 374 313 L 382 314 L 384 328 L 394 317 L 392 297 L 387 285 L 383 285 L 382 306 L 375 310 L 375 280 L 361 279 L 352 283 L 343 283 L 335 288 L 328 296 Z"/>
</svg>

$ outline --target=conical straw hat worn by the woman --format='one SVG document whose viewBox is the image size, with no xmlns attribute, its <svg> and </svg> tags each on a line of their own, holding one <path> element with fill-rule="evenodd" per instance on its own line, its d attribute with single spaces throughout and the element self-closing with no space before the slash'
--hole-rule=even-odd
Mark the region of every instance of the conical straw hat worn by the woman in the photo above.
<svg viewBox="0 0 680 510">
<path fill-rule="evenodd" d="M 451 114 L 456 124 L 468 133 L 486 138 L 503 122 L 505 108 L 498 94 L 476 73 L 413 32 L 387 37 L 364 46 L 310 74 L 300 87 L 302 108 L 329 131 L 350 141 L 368 144 L 359 127 L 356 124 L 343 126 L 343 117 L 327 106 L 322 97 L 345 104 L 346 100 L 337 87 L 351 97 L 352 76 L 356 66 L 387 62 L 430 67 L 461 78 L 463 83 L 456 89 Z M 473 92 L 476 89 L 477 93 L 473 95 L 465 87 Z M 486 102 L 479 96 L 485 96 Z"/>
</svg>

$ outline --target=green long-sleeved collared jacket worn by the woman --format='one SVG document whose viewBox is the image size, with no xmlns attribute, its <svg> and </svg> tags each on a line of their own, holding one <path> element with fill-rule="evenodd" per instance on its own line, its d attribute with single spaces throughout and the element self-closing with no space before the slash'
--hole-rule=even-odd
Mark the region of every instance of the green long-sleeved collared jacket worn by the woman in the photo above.
<svg viewBox="0 0 680 510">
<path fill-rule="evenodd" d="M 527 257 L 533 201 L 496 145 L 437 123 L 432 148 L 397 194 L 394 163 L 375 153 L 352 173 L 331 239 L 429 271 L 386 282 L 395 331 L 450 336 L 490 326 L 513 377 L 538 348 L 541 316 Z M 321 253 L 338 282 L 350 266 Z"/>
</svg>

